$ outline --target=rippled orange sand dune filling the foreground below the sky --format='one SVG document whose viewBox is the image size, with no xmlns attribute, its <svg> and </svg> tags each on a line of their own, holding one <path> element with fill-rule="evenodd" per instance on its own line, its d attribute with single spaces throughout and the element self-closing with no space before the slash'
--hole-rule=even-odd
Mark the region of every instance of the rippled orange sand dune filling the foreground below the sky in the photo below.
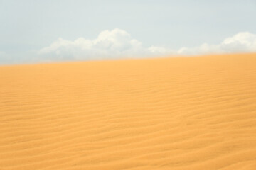
<svg viewBox="0 0 256 170">
<path fill-rule="evenodd" d="M 256 54 L 0 67 L 0 169 L 256 169 Z"/>
</svg>

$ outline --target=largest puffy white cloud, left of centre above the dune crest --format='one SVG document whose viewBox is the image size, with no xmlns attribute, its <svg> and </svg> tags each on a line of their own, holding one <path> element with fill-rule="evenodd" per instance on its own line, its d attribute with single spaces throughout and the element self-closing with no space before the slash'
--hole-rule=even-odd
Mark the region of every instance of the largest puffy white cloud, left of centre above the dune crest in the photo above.
<svg viewBox="0 0 256 170">
<path fill-rule="evenodd" d="M 78 38 L 74 41 L 59 38 L 49 47 L 39 50 L 39 55 L 55 57 L 59 60 L 97 60 L 116 57 L 138 57 L 150 55 L 157 47 L 146 49 L 142 42 L 135 40 L 124 30 L 102 31 L 95 40 Z"/>
</svg>

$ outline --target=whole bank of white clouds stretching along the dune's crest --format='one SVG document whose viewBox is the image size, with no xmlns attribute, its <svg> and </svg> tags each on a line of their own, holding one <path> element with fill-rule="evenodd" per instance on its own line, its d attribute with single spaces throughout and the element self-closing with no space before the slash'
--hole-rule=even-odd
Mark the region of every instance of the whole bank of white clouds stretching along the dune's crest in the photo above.
<svg viewBox="0 0 256 170">
<path fill-rule="evenodd" d="M 59 38 L 50 46 L 38 51 L 43 60 L 99 60 L 118 57 L 150 57 L 163 55 L 204 55 L 230 52 L 256 52 L 256 35 L 241 32 L 225 38 L 218 45 L 202 44 L 199 47 L 143 47 L 124 30 L 104 30 L 94 40 L 78 38 L 74 41 Z"/>
</svg>

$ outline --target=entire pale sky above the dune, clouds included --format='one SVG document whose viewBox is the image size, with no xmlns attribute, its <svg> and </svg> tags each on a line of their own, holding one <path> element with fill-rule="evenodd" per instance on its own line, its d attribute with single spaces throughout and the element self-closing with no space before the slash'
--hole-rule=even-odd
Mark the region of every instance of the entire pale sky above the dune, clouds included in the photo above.
<svg viewBox="0 0 256 170">
<path fill-rule="evenodd" d="M 256 52 L 256 0 L 0 0 L 0 64 Z"/>
</svg>

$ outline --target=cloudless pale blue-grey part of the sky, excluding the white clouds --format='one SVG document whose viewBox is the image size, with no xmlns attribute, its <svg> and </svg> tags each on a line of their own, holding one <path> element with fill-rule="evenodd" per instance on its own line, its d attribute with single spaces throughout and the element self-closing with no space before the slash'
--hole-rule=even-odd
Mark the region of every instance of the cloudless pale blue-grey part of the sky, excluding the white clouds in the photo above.
<svg viewBox="0 0 256 170">
<path fill-rule="evenodd" d="M 255 34 L 255 17 L 256 0 L 0 0 L 0 64 L 40 62 L 36 52 L 58 38 L 94 40 L 115 28 L 144 47 L 218 45 L 240 32 Z"/>
</svg>

